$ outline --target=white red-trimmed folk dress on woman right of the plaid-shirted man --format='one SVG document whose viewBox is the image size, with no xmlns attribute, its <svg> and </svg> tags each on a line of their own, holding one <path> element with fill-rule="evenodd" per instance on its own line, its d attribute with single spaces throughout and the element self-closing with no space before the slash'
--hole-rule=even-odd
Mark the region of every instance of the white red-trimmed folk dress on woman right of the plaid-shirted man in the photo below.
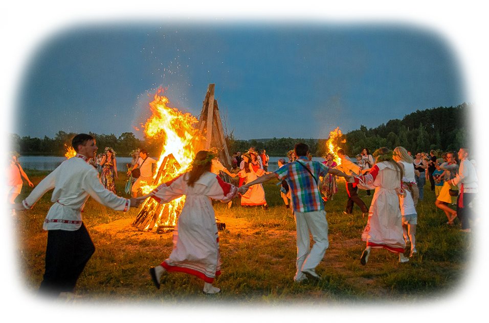
<svg viewBox="0 0 489 323">
<path fill-rule="evenodd" d="M 389 162 L 380 162 L 366 175 L 355 178 L 355 182 L 362 189 L 375 189 L 362 240 L 373 249 L 403 253 L 406 242 L 397 196 L 402 193 L 401 174 L 397 168 Z"/>
</svg>

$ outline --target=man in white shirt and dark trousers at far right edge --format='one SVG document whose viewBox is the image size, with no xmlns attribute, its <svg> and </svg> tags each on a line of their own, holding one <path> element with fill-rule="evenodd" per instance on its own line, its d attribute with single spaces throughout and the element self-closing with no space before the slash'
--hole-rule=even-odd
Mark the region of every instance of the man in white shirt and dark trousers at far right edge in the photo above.
<svg viewBox="0 0 489 323">
<path fill-rule="evenodd" d="M 450 185 L 459 185 L 459 194 L 457 197 L 457 217 L 462 225 L 463 232 L 471 232 L 469 219 L 474 221 L 474 227 L 480 222 L 480 217 L 470 207 L 469 203 L 474 200 L 475 195 L 479 191 L 476 184 L 478 178 L 474 166 L 469 161 L 470 149 L 461 147 L 458 151 L 458 159 L 460 167 L 455 178 L 447 181 Z"/>
</svg>

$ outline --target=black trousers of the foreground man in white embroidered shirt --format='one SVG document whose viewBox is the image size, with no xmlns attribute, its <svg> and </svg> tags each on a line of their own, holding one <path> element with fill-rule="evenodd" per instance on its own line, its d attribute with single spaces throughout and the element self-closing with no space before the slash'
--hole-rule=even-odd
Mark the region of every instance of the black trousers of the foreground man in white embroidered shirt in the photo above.
<svg viewBox="0 0 489 323">
<path fill-rule="evenodd" d="M 46 270 L 32 300 L 34 305 L 49 306 L 60 292 L 72 292 L 94 252 L 95 245 L 83 223 L 76 231 L 49 230 Z"/>
</svg>

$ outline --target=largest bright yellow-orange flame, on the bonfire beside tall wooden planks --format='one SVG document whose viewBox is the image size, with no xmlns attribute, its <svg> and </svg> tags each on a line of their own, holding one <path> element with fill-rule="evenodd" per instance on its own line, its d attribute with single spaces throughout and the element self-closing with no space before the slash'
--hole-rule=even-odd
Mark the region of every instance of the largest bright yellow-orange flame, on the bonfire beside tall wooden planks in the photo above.
<svg viewBox="0 0 489 323">
<path fill-rule="evenodd" d="M 161 96 L 163 89 L 158 89 L 150 108 L 152 115 L 144 125 L 144 133 L 148 138 L 158 138 L 163 141 L 162 152 L 158 161 L 158 172 L 153 177 L 153 183 L 142 187 L 147 194 L 152 189 L 185 172 L 195 157 L 197 141 L 200 139 L 194 125 L 197 119 L 190 113 L 182 113 L 176 108 L 169 108 L 168 98 Z M 165 207 L 158 208 L 152 199 L 146 200 L 143 209 L 157 208 L 161 210 L 157 221 L 148 223 L 144 230 L 151 230 L 158 225 L 175 225 L 177 216 L 185 202 L 185 196 L 177 198 Z M 154 226 L 154 227 L 151 227 Z"/>
</svg>

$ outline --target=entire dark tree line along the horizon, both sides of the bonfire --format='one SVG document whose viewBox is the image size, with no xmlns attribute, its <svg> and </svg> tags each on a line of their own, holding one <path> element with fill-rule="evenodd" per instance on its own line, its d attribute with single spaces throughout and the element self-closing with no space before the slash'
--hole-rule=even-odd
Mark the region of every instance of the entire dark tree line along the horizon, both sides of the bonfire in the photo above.
<svg viewBox="0 0 489 323">
<path fill-rule="evenodd" d="M 129 157 L 132 150 L 142 147 L 151 156 L 158 157 L 161 154 L 161 139 L 140 140 L 131 132 L 125 132 L 119 137 L 114 134 L 90 134 L 97 140 L 99 153 L 107 146 L 113 147 L 121 157 Z M 54 138 L 45 136 L 40 139 L 20 137 L 0 130 L 0 148 L 17 151 L 21 155 L 64 156 L 64 144 L 70 145 L 74 135 L 59 131 Z M 304 142 L 309 145 L 313 156 L 321 157 L 326 153 L 327 139 L 288 137 L 239 140 L 231 133 L 227 141 L 230 153 L 244 153 L 250 147 L 255 147 L 257 150 L 266 150 L 271 156 L 285 156 L 294 149 L 296 143 Z M 393 149 L 403 146 L 412 153 L 428 153 L 430 150 L 458 151 L 461 146 L 468 146 L 473 158 L 477 158 L 478 168 L 485 170 L 489 169 L 489 106 L 483 102 L 474 102 L 456 107 L 417 110 L 405 115 L 403 119 L 389 120 L 376 128 L 367 129 L 362 125 L 360 129 L 338 138 L 336 143 L 349 156 L 359 154 L 365 147 L 373 152 L 379 147 Z"/>
</svg>

